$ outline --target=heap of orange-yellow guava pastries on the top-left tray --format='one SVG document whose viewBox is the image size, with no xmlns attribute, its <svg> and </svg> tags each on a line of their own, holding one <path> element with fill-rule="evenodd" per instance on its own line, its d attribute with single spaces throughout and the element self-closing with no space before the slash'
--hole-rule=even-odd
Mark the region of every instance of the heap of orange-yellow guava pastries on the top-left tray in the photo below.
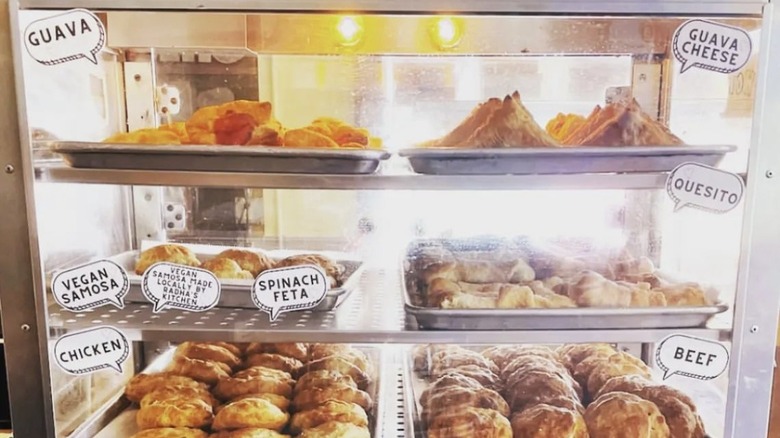
<svg viewBox="0 0 780 438">
<path fill-rule="evenodd" d="M 366 129 L 332 117 L 321 117 L 298 129 L 285 129 L 273 118 L 269 102 L 237 100 L 206 106 L 186 122 L 119 133 L 105 143 L 165 145 L 287 146 L 311 148 L 379 148 Z"/>
</svg>

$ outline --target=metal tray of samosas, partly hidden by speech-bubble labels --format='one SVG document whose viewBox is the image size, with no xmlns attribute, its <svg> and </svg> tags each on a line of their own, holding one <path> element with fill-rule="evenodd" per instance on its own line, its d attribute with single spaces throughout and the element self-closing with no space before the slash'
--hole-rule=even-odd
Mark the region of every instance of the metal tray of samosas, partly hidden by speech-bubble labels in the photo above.
<svg viewBox="0 0 780 438">
<path fill-rule="evenodd" d="M 187 245 L 185 245 L 187 246 Z M 199 246 L 202 248 L 203 246 Z M 196 256 L 201 261 L 205 261 L 219 252 L 232 248 L 211 246 L 209 252 L 199 252 L 199 249 L 195 249 Z M 244 248 L 249 251 L 252 248 Z M 340 287 L 331 289 L 325 295 L 322 302 L 312 309 L 314 312 L 326 312 L 333 310 L 340 306 L 349 296 L 354 292 L 359 284 L 360 277 L 363 275 L 363 263 L 359 260 L 350 258 L 348 254 L 337 252 L 318 252 L 318 251 L 290 251 L 290 250 L 271 250 L 263 251 L 270 258 L 280 260 L 282 258 L 294 255 L 294 254 L 314 254 L 321 253 L 334 259 L 336 262 L 344 265 L 344 280 Z M 109 260 L 116 262 L 119 266 L 123 267 L 127 271 L 127 278 L 130 282 L 130 290 L 125 296 L 125 301 L 129 303 L 148 303 L 149 300 L 144 297 L 141 292 L 141 283 L 143 277 L 135 273 L 135 261 L 138 259 L 140 251 L 127 251 L 111 257 Z M 231 280 L 220 279 L 222 294 L 219 298 L 218 307 L 236 307 L 243 309 L 257 309 L 257 306 L 252 302 L 250 296 L 250 290 L 252 289 L 252 280 Z"/>
</svg>

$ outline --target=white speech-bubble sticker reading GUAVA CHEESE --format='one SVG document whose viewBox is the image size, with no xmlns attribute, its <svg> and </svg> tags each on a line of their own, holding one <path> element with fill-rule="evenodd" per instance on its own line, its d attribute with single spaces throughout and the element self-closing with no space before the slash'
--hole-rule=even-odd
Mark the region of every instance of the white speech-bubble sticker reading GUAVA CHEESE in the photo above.
<svg viewBox="0 0 780 438">
<path fill-rule="evenodd" d="M 733 73 L 747 64 L 753 43 L 744 30 L 706 20 L 690 20 L 674 32 L 672 51 L 682 63 L 680 73 L 699 67 Z"/>
</svg>

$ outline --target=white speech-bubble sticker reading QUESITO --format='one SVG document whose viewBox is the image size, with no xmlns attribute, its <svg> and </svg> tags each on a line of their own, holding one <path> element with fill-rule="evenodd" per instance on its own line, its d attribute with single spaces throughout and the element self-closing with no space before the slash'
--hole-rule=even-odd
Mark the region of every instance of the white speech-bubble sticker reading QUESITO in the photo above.
<svg viewBox="0 0 780 438">
<path fill-rule="evenodd" d="M 666 179 L 666 192 L 675 203 L 674 211 L 693 207 L 712 213 L 725 213 L 739 204 L 745 182 L 739 175 L 699 163 L 683 163 Z"/>
</svg>

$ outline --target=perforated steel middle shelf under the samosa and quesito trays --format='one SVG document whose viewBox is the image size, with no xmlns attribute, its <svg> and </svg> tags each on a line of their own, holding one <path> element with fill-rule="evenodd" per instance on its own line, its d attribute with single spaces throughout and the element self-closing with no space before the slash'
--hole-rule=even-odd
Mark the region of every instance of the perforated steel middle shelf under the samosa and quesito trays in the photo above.
<svg viewBox="0 0 780 438">
<path fill-rule="evenodd" d="M 353 343 L 562 343 L 562 342 L 658 342 L 674 333 L 713 340 L 728 340 L 728 327 L 650 330 L 517 330 L 432 331 L 418 330 L 406 319 L 396 273 L 367 272 L 361 287 L 337 310 L 297 312 L 269 322 L 268 315 L 253 309 L 212 309 L 203 313 L 163 311 L 153 313 L 150 304 L 127 304 L 124 309 L 104 307 L 71 313 L 56 304 L 49 307 L 53 336 L 97 325 L 114 326 L 134 341 L 267 341 Z"/>
</svg>

